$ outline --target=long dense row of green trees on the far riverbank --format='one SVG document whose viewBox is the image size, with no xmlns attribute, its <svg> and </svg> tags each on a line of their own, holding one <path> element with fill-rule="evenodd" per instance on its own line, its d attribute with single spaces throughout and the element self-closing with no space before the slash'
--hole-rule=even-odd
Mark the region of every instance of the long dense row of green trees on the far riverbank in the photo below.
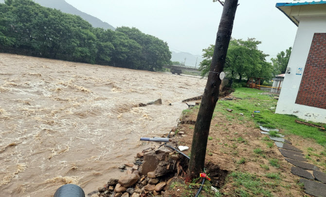
<svg viewBox="0 0 326 197">
<path fill-rule="evenodd" d="M 0 46 L 2 52 L 148 71 L 161 70 L 171 59 L 167 43 L 155 36 L 129 27 L 93 28 L 32 0 L 0 4 Z"/>
</svg>

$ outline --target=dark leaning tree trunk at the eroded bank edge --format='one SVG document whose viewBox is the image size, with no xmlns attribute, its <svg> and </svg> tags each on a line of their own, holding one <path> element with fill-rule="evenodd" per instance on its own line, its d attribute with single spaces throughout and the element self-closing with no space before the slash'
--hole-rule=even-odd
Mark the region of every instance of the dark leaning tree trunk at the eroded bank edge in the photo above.
<svg viewBox="0 0 326 197">
<path fill-rule="evenodd" d="M 194 129 L 189 168 L 185 179 L 186 182 L 190 182 L 192 179 L 199 177 L 199 173 L 204 169 L 207 138 L 213 112 L 218 100 L 219 85 L 221 84 L 217 72 L 222 72 L 224 68 L 237 3 L 238 0 L 225 0 L 223 6 L 223 13 L 217 31 L 211 69 L 208 74 Z"/>
</svg>

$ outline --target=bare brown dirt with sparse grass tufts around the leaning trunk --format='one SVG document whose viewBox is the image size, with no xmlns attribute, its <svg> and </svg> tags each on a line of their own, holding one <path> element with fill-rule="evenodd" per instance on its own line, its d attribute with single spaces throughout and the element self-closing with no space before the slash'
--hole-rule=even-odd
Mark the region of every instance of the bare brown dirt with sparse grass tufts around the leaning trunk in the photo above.
<svg viewBox="0 0 326 197">
<path fill-rule="evenodd" d="M 182 120 L 196 121 L 198 110 L 199 107 L 195 107 L 192 111 L 185 113 L 181 117 Z M 215 165 L 217 166 L 215 168 L 219 168 L 215 170 L 219 171 L 218 173 L 221 176 L 211 178 L 212 180 L 217 179 L 217 182 L 219 182 L 221 196 L 242 196 L 236 192 L 239 187 L 235 184 L 235 181 L 226 177 L 231 172 L 247 172 L 255 175 L 260 181 L 266 182 L 268 186 L 264 187 L 271 192 L 272 196 L 309 197 L 310 195 L 304 192 L 303 186 L 299 183 L 300 178 L 290 173 L 293 165 L 284 159 L 277 146 L 266 138 L 268 136 L 261 134 L 260 129 L 257 128 L 254 122 L 242 121 L 240 114 L 234 114 L 234 116 L 234 120 L 229 120 L 223 114 L 215 112 L 207 144 L 205 163 L 206 166 Z M 184 135 L 178 139 L 180 145 L 189 146 L 189 149 L 184 151 L 186 155 L 190 155 L 194 127 L 195 125 L 179 125 L 178 128 L 179 132 L 184 132 Z M 290 140 L 294 146 L 303 150 L 305 156 L 310 157 L 309 163 L 317 165 L 321 171 L 325 172 L 325 166 L 314 162 L 319 161 L 321 158 L 311 155 L 311 150 L 316 153 L 322 152 L 324 148 L 321 145 L 295 135 L 286 135 L 285 139 Z M 272 147 L 269 147 L 267 143 L 272 143 Z M 254 153 L 256 148 L 260 148 L 262 154 Z M 269 164 L 271 159 L 279 161 L 279 168 Z M 323 160 L 326 160 L 326 158 L 323 157 Z M 264 164 L 269 166 L 269 170 L 261 167 Z M 214 174 L 214 172 L 211 173 Z M 267 173 L 278 174 L 280 179 L 267 178 Z M 224 180 L 225 178 L 226 180 Z M 184 196 L 185 193 L 182 188 L 184 187 L 175 188 L 175 192 L 169 193 L 169 195 L 174 197 Z M 180 189 L 180 191 L 177 192 L 177 189 Z M 212 194 L 205 193 L 202 195 L 212 196 Z"/>
</svg>

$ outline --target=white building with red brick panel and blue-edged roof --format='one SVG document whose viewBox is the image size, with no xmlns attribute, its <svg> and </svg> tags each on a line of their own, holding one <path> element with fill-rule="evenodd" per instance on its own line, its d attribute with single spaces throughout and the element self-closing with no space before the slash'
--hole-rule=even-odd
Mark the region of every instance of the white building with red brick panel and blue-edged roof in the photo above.
<svg viewBox="0 0 326 197">
<path fill-rule="evenodd" d="M 276 113 L 326 123 L 326 1 L 276 7 L 298 26 Z"/>
</svg>

